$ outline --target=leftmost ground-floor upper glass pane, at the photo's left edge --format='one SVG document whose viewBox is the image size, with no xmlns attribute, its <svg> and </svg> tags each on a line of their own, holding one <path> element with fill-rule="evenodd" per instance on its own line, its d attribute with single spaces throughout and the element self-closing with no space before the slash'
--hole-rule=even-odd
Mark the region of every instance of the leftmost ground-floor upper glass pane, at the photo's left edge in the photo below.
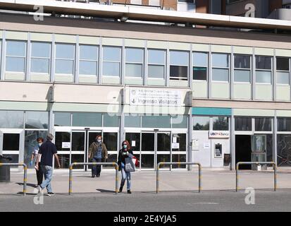
<svg viewBox="0 0 291 226">
<path fill-rule="evenodd" d="M 23 129 L 24 112 L 0 111 L 0 128 Z"/>
</svg>

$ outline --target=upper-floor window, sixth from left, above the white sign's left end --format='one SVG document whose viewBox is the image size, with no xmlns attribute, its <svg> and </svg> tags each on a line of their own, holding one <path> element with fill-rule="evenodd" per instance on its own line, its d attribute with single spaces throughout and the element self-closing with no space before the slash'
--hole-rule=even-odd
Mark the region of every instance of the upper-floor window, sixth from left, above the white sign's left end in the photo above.
<svg viewBox="0 0 291 226">
<path fill-rule="evenodd" d="M 142 78 L 144 65 L 144 49 L 125 49 L 125 77 Z"/>
</svg>

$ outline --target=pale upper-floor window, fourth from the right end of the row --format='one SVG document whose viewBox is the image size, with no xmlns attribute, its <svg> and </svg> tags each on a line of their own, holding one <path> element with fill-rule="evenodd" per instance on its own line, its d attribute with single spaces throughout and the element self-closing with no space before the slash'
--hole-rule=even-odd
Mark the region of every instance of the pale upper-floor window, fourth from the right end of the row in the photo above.
<svg viewBox="0 0 291 226">
<path fill-rule="evenodd" d="M 212 54 L 212 81 L 229 81 L 229 54 Z"/>
</svg>

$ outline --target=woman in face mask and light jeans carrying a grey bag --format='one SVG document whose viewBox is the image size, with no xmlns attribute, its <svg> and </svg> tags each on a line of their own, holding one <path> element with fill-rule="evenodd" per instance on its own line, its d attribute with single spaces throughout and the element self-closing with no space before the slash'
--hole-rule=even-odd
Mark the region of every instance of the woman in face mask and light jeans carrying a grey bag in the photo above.
<svg viewBox="0 0 291 226">
<path fill-rule="evenodd" d="M 134 156 L 130 148 L 130 143 L 128 141 L 123 141 L 122 148 L 119 150 L 119 153 L 118 153 L 118 167 L 119 167 L 119 171 L 121 171 L 121 176 L 122 176 L 119 193 L 123 191 L 123 186 L 125 184 L 125 179 L 126 179 L 128 194 L 131 194 L 131 191 L 130 191 L 131 175 L 130 175 L 130 172 L 125 171 L 125 158 L 127 157 L 132 158 Z"/>
</svg>

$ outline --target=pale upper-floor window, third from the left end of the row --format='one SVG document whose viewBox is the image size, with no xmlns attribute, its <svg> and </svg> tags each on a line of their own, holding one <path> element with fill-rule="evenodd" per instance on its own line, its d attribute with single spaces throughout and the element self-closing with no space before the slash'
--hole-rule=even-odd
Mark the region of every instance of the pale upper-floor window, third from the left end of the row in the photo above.
<svg viewBox="0 0 291 226">
<path fill-rule="evenodd" d="M 56 73 L 73 75 L 75 65 L 75 45 L 56 44 Z"/>
</svg>

